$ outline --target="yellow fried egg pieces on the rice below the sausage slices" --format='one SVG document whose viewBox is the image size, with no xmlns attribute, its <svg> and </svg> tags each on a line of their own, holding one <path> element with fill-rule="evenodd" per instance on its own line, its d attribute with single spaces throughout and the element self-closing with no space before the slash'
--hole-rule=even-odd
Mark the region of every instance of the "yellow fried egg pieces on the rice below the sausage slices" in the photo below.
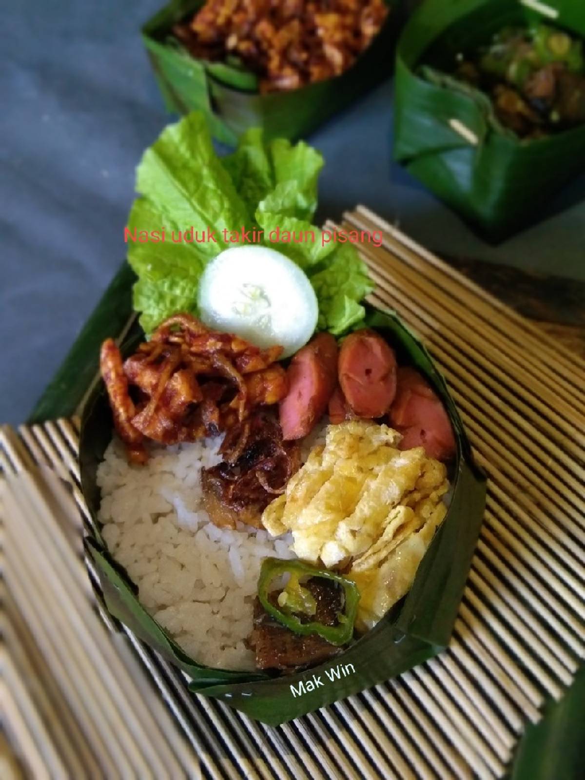
<svg viewBox="0 0 585 780">
<path fill-rule="evenodd" d="M 360 588 L 356 627 L 374 625 L 410 589 L 434 531 L 445 519 L 443 463 L 422 447 L 397 449 L 386 425 L 329 425 L 286 491 L 264 509 L 272 536 L 293 533 L 299 558 L 328 569 L 349 566 Z"/>
</svg>

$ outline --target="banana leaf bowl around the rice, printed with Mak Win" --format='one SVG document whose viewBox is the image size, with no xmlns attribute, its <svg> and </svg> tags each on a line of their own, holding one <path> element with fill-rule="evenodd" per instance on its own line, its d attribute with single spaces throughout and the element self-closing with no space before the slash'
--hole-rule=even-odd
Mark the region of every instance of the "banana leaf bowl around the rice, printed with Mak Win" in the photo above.
<svg viewBox="0 0 585 780">
<path fill-rule="evenodd" d="M 32 420 L 38 420 L 51 408 L 53 413 L 71 413 L 55 406 L 60 388 L 69 385 L 75 400 L 80 386 L 72 384 L 80 363 L 89 360 L 97 371 L 97 355 L 101 339 L 119 335 L 119 321 L 112 320 L 112 305 L 118 317 L 131 314 L 130 288 L 133 275 L 127 266 L 119 272 L 105 295 L 101 306 L 66 360 L 55 382 L 48 388 L 44 401 L 37 406 Z M 457 457 L 450 473 L 453 484 L 449 512 L 417 571 L 410 593 L 388 613 L 378 626 L 351 645 L 334 661 L 285 677 L 265 673 L 229 672 L 207 668 L 189 658 L 140 605 L 137 588 L 126 571 L 108 554 L 99 532 L 97 510 L 100 491 L 96 484 L 97 465 L 112 438 L 112 415 L 101 381 L 84 403 L 80 434 L 80 472 L 83 495 L 94 519 L 94 534 L 86 539 L 86 547 L 99 574 L 101 589 L 109 612 L 126 624 L 154 650 L 183 669 L 191 679 L 190 690 L 215 697 L 253 718 L 277 725 L 326 704 L 357 693 L 388 680 L 406 669 L 438 654 L 448 643 L 459 601 L 466 582 L 471 557 L 475 549 L 484 515 L 485 477 L 473 463 L 470 444 L 463 429 L 445 380 L 434 367 L 431 357 L 418 339 L 392 312 L 367 310 L 367 323 L 381 332 L 397 349 L 399 362 L 417 367 L 434 386 L 449 411 L 456 432 Z M 143 339 L 135 325 L 122 346 L 130 353 Z M 77 391 L 75 390 L 77 388 Z M 79 399 L 76 399 L 79 401 Z M 325 672 L 337 665 L 352 664 L 355 672 L 329 682 Z M 324 683 L 315 690 L 300 695 L 300 683 L 321 678 Z"/>
</svg>

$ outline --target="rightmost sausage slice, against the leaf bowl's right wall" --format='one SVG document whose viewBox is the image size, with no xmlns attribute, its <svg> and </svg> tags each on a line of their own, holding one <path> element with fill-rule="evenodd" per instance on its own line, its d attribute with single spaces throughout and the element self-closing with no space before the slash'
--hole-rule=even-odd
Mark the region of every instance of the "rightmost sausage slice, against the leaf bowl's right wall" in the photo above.
<svg viewBox="0 0 585 780">
<path fill-rule="evenodd" d="M 456 441 L 449 415 L 427 380 L 410 366 L 400 367 L 396 396 L 388 414 L 390 424 L 402 433 L 400 449 L 424 447 L 429 458 L 449 460 Z"/>
</svg>

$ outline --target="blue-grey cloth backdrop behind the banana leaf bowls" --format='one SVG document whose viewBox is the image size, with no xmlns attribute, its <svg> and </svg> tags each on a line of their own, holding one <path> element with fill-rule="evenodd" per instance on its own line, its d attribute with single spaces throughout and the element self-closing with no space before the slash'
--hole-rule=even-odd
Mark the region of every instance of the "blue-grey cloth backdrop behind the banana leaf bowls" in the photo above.
<svg viewBox="0 0 585 780">
<path fill-rule="evenodd" d="M 124 256 L 134 168 L 168 121 L 138 33 L 160 5 L 2 9 L 0 423 L 27 417 Z M 585 280 L 585 204 L 481 243 L 391 165 L 391 98 L 386 83 L 311 137 L 327 161 L 321 219 L 361 202 L 435 250 Z"/>
</svg>

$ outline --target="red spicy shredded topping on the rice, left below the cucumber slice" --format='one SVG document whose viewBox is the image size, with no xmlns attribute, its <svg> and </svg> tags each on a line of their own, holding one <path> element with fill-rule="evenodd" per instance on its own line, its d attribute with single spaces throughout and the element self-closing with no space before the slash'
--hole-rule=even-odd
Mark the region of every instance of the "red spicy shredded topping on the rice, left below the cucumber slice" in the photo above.
<svg viewBox="0 0 585 780">
<path fill-rule="evenodd" d="M 257 406 L 286 395 L 282 347 L 258 349 L 206 328 L 190 314 L 169 317 L 151 341 L 122 362 L 112 339 L 100 367 L 114 424 L 133 463 L 144 463 L 147 439 L 164 445 L 214 436 L 242 424 Z"/>
</svg>

